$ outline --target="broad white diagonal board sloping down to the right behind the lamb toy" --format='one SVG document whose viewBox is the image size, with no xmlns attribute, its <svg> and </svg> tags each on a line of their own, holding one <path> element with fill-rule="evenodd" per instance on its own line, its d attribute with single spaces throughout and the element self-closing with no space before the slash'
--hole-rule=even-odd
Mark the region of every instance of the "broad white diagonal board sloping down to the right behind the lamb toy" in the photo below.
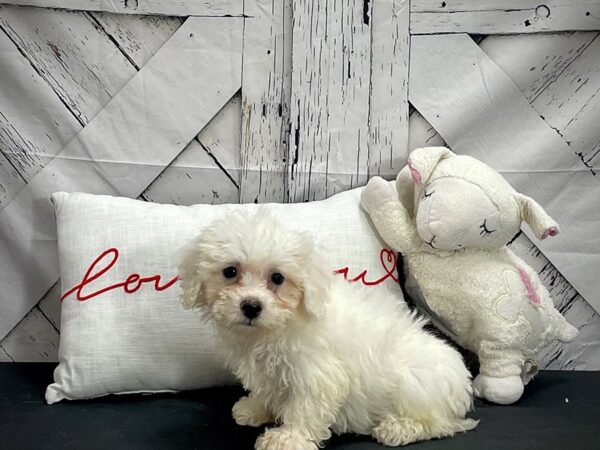
<svg viewBox="0 0 600 450">
<path fill-rule="evenodd" d="M 452 148 L 498 169 L 558 220 L 560 237 L 540 248 L 600 308 L 600 209 L 588 208 L 600 184 L 506 74 L 468 36 L 415 36 L 410 100 Z"/>
</svg>

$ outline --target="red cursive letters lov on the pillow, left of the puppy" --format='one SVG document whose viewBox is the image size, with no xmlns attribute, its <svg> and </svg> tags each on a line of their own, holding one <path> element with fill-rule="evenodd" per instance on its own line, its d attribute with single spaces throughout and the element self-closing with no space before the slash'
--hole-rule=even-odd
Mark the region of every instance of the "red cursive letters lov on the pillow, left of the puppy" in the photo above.
<svg viewBox="0 0 600 450">
<path fill-rule="evenodd" d="M 106 264 L 106 266 L 101 267 L 100 263 L 104 259 L 108 259 L 108 263 Z M 125 281 L 122 281 L 120 283 L 111 284 L 110 286 L 106 286 L 105 288 L 102 288 L 100 290 L 84 294 L 83 288 L 85 288 L 87 285 L 89 285 L 90 283 L 92 283 L 93 281 L 97 280 L 102 275 L 104 275 L 106 272 L 108 272 L 116 264 L 118 259 L 119 259 L 119 250 L 117 250 L 116 248 L 109 248 L 108 250 L 103 251 L 92 262 L 92 265 L 85 272 L 85 275 L 83 275 L 83 279 L 78 284 L 76 284 L 71 289 L 69 289 L 67 292 L 65 292 L 60 297 L 60 301 L 63 301 L 65 298 L 67 298 L 73 292 L 76 293 L 77 300 L 79 300 L 80 302 L 89 300 L 90 298 L 94 298 L 100 294 L 107 292 L 107 291 L 112 291 L 113 289 L 119 289 L 119 288 L 123 288 L 123 291 L 125 291 L 126 294 L 133 294 L 134 292 L 139 290 L 144 283 L 151 283 L 151 282 L 154 282 L 154 289 L 156 291 L 164 291 L 165 289 L 168 289 L 171 286 L 173 286 L 179 279 L 179 277 L 173 277 L 169 281 L 167 281 L 165 284 L 161 285 L 160 284 L 160 282 L 161 282 L 160 275 L 152 275 L 152 276 L 148 276 L 148 277 L 142 277 L 140 274 L 132 273 L 131 275 L 129 275 L 127 277 L 127 279 L 125 279 Z M 100 266 L 100 268 L 98 266 Z"/>
</svg>

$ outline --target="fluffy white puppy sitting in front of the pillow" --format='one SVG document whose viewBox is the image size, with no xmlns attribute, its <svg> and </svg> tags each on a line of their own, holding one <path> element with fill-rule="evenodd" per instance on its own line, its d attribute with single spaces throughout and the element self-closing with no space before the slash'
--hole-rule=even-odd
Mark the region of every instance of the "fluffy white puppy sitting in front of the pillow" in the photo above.
<svg viewBox="0 0 600 450">
<path fill-rule="evenodd" d="M 189 246 L 182 301 L 217 325 L 249 391 L 239 425 L 277 423 L 256 449 L 316 449 L 335 433 L 398 446 L 474 428 L 461 356 L 398 298 L 328 270 L 312 239 L 264 209 L 230 213 Z"/>
</svg>

